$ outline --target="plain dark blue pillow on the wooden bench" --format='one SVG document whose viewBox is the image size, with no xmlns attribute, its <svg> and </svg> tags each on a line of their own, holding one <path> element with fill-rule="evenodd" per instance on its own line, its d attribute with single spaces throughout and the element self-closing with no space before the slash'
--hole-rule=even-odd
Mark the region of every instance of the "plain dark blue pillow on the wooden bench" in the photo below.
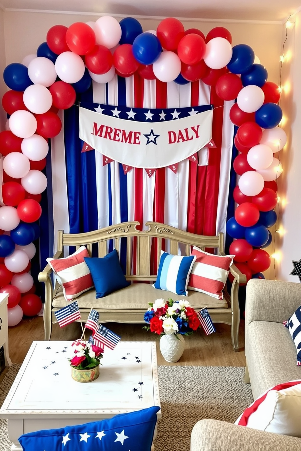
<svg viewBox="0 0 301 451">
<path fill-rule="evenodd" d="M 96 299 L 130 285 L 122 272 L 116 249 L 103 258 L 84 257 L 96 289 Z"/>
</svg>

